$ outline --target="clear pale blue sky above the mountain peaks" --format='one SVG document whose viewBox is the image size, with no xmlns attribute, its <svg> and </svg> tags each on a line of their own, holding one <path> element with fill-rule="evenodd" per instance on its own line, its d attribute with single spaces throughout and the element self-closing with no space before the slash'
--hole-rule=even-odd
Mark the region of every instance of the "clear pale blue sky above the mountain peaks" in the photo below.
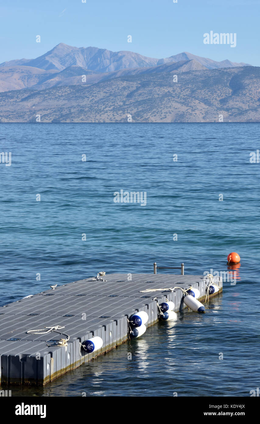
<svg viewBox="0 0 260 424">
<path fill-rule="evenodd" d="M 155 58 L 188 51 L 260 66 L 260 0 L 0 1 L 0 63 L 33 59 L 63 42 Z M 237 46 L 203 44 L 210 31 L 236 33 Z"/>
</svg>

